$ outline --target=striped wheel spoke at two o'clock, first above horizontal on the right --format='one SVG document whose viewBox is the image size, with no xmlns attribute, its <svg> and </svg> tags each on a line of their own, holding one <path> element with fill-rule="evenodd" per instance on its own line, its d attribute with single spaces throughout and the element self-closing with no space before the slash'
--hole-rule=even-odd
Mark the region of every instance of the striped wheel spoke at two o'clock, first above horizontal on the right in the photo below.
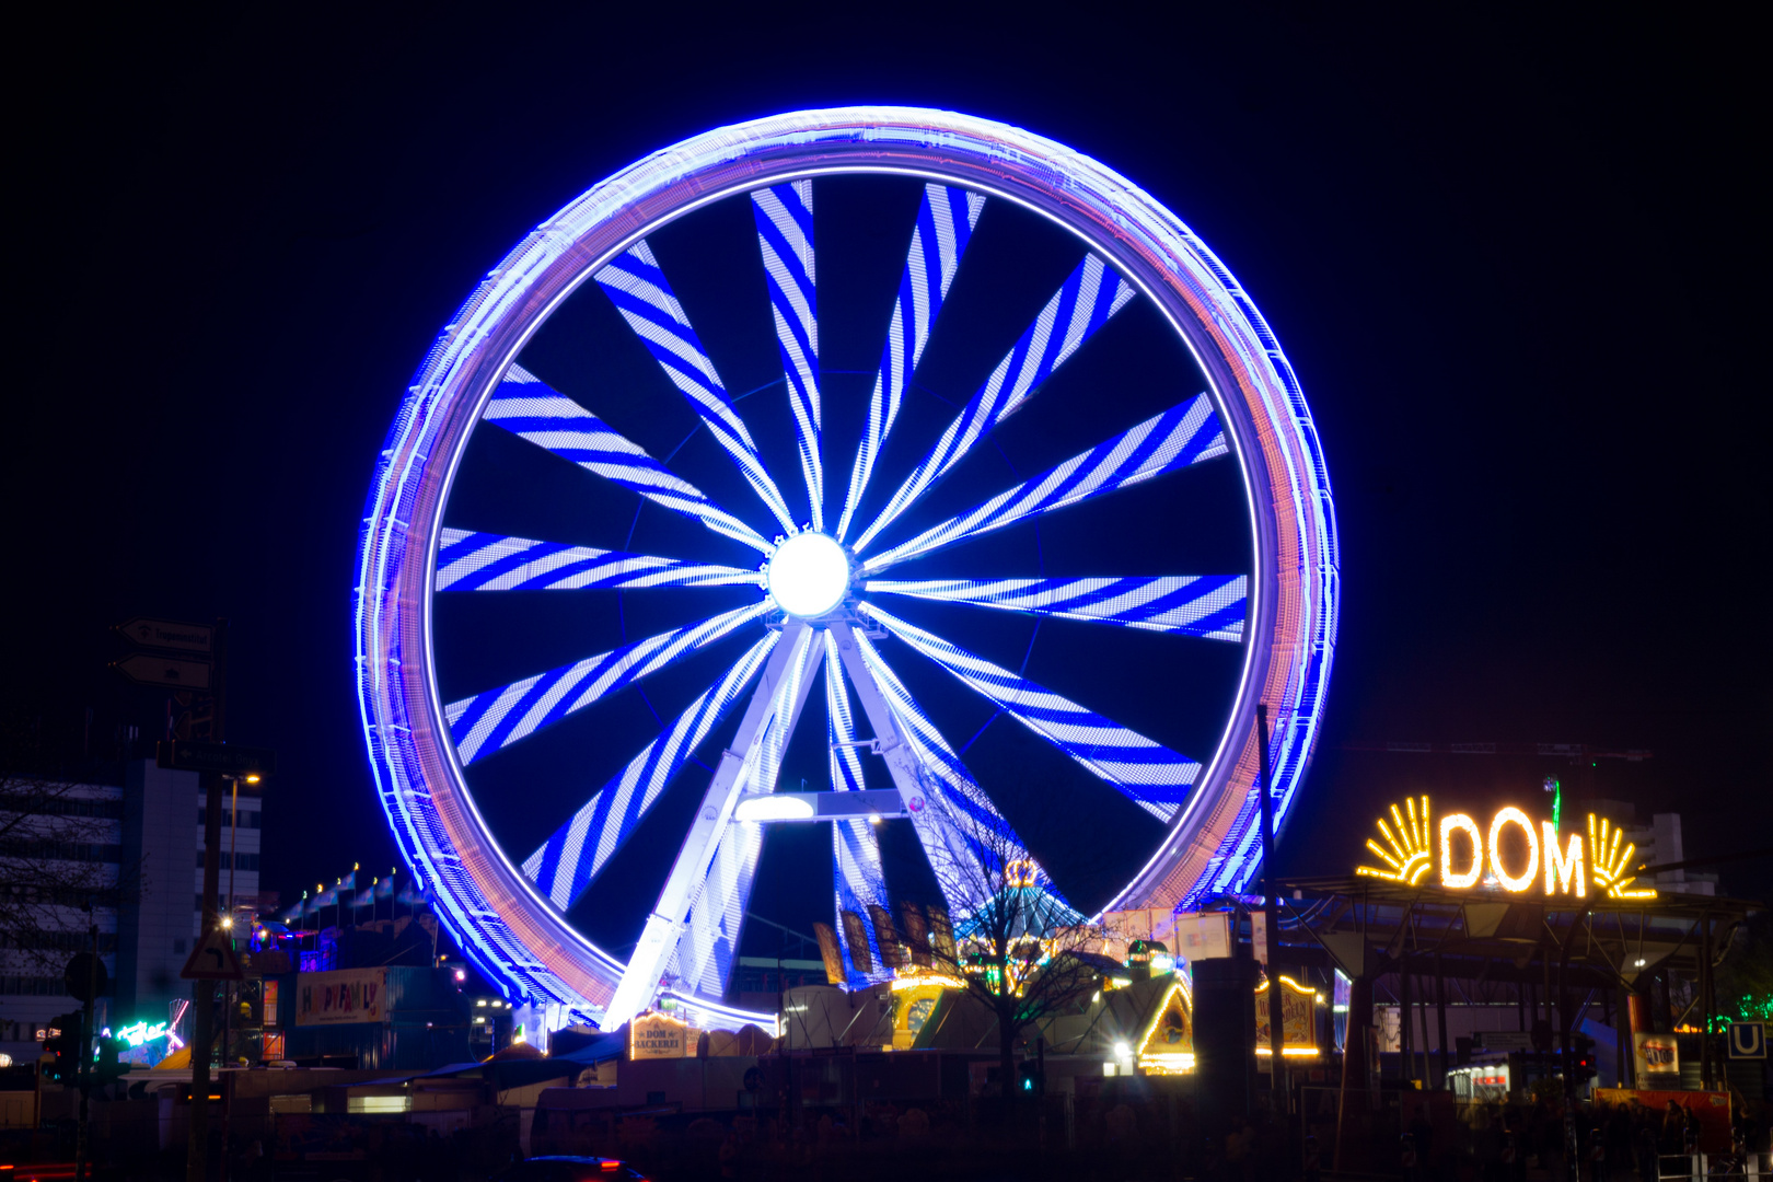
<svg viewBox="0 0 1773 1182">
<path fill-rule="evenodd" d="M 862 571 L 878 574 L 897 562 L 918 558 L 950 542 L 1000 530 L 1034 514 L 1066 509 L 1092 496 L 1115 493 L 1167 471 L 1216 459 L 1227 450 L 1225 431 L 1220 427 L 1218 415 L 1213 413 L 1213 404 L 1204 393 L 1195 395 L 1082 455 L 1073 455 L 1032 480 L 1023 480 L 1016 487 L 998 493 L 972 512 L 949 517 L 910 542 L 874 555 Z"/>
</svg>

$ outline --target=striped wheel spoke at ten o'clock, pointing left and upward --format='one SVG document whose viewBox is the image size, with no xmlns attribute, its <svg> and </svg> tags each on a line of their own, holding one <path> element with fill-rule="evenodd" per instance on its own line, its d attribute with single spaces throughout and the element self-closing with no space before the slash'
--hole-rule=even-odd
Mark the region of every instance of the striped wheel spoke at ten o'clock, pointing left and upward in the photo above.
<svg viewBox="0 0 1773 1182">
<path fill-rule="evenodd" d="M 757 530 L 711 502 L 693 484 L 667 471 L 638 443 L 519 365 L 512 365 L 493 392 L 484 418 L 612 484 L 693 517 L 715 533 L 764 555 L 775 549 Z"/>
</svg>

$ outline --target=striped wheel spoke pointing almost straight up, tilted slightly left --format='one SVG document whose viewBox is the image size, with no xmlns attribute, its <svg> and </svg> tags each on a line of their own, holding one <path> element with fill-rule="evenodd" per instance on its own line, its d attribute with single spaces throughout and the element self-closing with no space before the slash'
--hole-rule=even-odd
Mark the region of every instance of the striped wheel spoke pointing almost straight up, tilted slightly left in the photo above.
<svg viewBox="0 0 1773 1182">
<path fill-rule="evenodd" d="M 769 280 L 769 310 L 787 400 L 800 434 L 800 471 L 812 502 L 812 528 L 824 528 L 824 464 L 819 457 L 819 292 L 812 253 L 812 181 L 752 193 L 757 245 Z"/>
</svg>

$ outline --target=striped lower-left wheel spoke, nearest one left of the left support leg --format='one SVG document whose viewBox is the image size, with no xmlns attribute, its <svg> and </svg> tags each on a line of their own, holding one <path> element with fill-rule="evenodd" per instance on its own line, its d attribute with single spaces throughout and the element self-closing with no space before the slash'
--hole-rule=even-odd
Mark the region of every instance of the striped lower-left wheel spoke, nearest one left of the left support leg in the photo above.
<svg viewBox="0 0 1773 1182">
<path fill-rule="evenodd" d="M 566 911 L 592 884 L 605 863 L 628 842 L 665 787 L 683 771 L 690 755 L 732 711 L 745 688 L 764 666 L 782 633 L 769 633 L 716 684 L 702 691 L 665 734 L 649 743 L 628 767 L 592 796 L 573 819 L 555 829 L 523 861 L 523 874 L 553 906 Z"/>
</svg>

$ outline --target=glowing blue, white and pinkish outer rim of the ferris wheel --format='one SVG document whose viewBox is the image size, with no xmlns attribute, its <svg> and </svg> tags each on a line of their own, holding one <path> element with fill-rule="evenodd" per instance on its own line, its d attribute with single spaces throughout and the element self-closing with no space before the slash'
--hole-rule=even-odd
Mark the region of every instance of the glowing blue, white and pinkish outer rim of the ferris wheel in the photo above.
<svg viewBox="0 0 1773 1182">
<path fill-rule="evenodd" d="M 1110 906 L 1168 906 L 1252 877 L 1257 702 L 1273 725 L 1277 819 L 1291 812 L 1310 760 L 1335 647 L 1330 480 L 1285 354 L 1213 252 L 1124 177 L 1007 124 L 871 106 L 720 128 L 592 186 L 493 268 L 415 374 L 365 505 L 356 670 L 378 794 L 445 925 L 511 996 L 594 1017 L 622 964 L 573 930 L 489 838 L 449 741 L 431 673 L 429 590 L 456 464 L 518 351 L 598 266 L 702 204 L 821 172 L 945 179 L 1044 213 L 1156 303 L 1211 381 L 1255 533 L 1243 679 L 1188 808 Z M 718 1008 L 704 999 L 704 1010 Z"/>
</svg>

